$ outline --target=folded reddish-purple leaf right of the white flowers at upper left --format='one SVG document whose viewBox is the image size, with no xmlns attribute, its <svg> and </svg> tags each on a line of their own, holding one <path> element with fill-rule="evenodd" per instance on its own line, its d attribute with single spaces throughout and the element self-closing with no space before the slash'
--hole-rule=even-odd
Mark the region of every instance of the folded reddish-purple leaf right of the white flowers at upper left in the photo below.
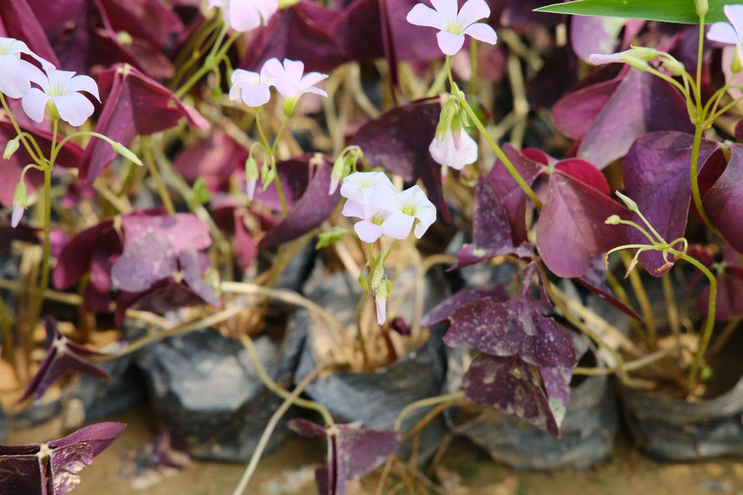
<svg viewBox="0 0 743 495">
<path fill-rule="evenodd" d="M 129 65 L 116 65 L 98 76 L 105 104 L 96 132 L 129 145 L 134 137 L 165 131 L 185 117 L 190 125 L 205 129 L 209 123 L 186 107 L 167 88 Z M 108 142 L 93 138 L 80 163 L 80 179 L 93 183 L 118 154 Z"/>
</svg>

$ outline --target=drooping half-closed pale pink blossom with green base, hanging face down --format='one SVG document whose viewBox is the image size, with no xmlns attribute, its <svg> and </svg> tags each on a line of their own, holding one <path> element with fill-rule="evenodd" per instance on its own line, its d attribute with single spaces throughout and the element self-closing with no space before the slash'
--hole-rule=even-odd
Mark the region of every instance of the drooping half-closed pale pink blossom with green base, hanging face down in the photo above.
<svg viewBox="0 0 743 495">
<path fill-rule="evenodd" d="M 447 166 L 461 170 L 464 165 L 477 161 L 477 142 L 467 134 L 467 114 L 454 98 L 447 99 L 441 108 L 436 134 L 428 151 L 441 166 L 441 175 L 446 177 Z"/>
</svg>

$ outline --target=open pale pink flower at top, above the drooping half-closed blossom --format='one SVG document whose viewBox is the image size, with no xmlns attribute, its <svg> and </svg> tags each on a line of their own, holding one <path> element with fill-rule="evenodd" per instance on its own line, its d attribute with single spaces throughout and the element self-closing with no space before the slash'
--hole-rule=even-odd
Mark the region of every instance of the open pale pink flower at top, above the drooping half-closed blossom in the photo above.
<svg viewBox="0 0 743 495">
<path fill-rule="evenodd" d="M 454 55 L 461 50 L 465 34 L 490 45 L 498 41 L 493 27 L 476 22 L 490 17 L 490 7 L 485 0 L 467 0 L 458 11 L 457 0 L 431 0 L 431 3 L 433 8 L 426 4 L 415 4 L 406 19 L 416 26 L 438 29 L 436 39 L 444 55 Z"/>
</svg>

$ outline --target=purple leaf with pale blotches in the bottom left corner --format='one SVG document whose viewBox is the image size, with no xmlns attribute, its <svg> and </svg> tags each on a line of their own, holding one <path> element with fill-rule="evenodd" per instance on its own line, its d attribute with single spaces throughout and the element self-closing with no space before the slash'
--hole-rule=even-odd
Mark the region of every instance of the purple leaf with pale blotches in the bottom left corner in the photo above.
<svg viewBox="0 0 743 495">
<path fill-rule="evenodd" d="M 91 465 L 125 427 L 97 423 L 45 444 L 0 445 L 0 493 L 68 494 L 80 484 L 80 470 Z"/>
</svg>

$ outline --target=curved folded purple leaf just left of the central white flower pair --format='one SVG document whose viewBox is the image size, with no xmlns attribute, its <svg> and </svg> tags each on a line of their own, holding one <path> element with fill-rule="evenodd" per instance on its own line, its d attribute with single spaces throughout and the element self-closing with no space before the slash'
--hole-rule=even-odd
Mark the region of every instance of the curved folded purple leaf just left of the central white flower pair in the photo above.
<svg viewBox="0 0 743 495">
<path fill-rule="evenodd" d="M 259 247 L 276 246 L 305 235 L 319 226 L 338 204 L 340 189 L 334 194 L 328 194 L 333 164 L 326 157 L 321 157 L 319 163 L 317 157 L 304 157 L 293 161 L 314 162 L 316 164 L 314 177 L 288 217 L 262 238 Z M 277 168 L 281 166 L 282 163 L 276 165 Z"/>
</svg>

